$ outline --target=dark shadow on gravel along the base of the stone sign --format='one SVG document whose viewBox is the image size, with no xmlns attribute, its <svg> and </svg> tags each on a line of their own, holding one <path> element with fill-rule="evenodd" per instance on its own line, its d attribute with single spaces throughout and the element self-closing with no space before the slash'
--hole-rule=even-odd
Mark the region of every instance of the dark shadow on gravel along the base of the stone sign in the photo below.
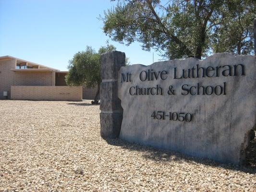
<svg viewBox="0 0 256 192">
<path fill-rule="evenodd" d="M 165 150 L 158 150 L 153 147 L 143 146 L 139 144 L 132 144 L 126 141 L 122 141 L 120 139 L 107 139 L 108 144 L 120 146 L 123 149 L 128 149 L 131 151 L 139 151 L 142 152 L 142 156 L 151 159 L 154 161 L 180 161 L 180 162 L 189 162 L 191 164 L 201 163 L 207 166 L 213 167 L 221 167 L 225 169 L 232 169 L 236 171 L 243 171 L 245 173 L 256 173 L 256 138 L 251 141 L 251 145 L 248 147 L 246 157 L 247 163 L 244 166 L 235 166 L 232 164 L 222 164 L 207 158 L 197 158 L 186 156 L 178 152 L 174 151 L 165 151 Z"/>
</svg>

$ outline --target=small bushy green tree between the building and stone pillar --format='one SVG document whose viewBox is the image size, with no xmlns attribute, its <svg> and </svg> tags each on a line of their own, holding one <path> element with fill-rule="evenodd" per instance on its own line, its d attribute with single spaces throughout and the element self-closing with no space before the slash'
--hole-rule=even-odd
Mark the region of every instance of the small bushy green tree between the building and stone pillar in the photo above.
<svg viewBox="0 0 256 192">
<path fill-rule="evenodd" d="M 100 77 L 100 54 L 115 50 L 113 45 L 100 47 L 96 52 L 92 47 L 87 46 L 85 51 L 79 51 L 69 60 L 69 73 L 66 75 L 68 85 L 86 85 L 87 87 L 97 86 L 97 93 L 92 103 L 98 103 Z"/>
</svg>

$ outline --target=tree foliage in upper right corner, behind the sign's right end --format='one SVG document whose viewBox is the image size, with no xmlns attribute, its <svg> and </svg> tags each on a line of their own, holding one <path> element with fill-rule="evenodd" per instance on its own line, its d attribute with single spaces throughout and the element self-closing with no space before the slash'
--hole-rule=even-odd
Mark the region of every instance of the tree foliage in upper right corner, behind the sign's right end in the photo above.
<svg viewBox="0 0 256 192">
<path fill-rule="evenodd" d="M 250 7 L 250 0 L 233 0 L 227 3 L 228 14 L 224 22 L 215 28 L 213 35 L 214 52 L 236 52 L 250 54 L 253 50 L 253 20 L 256 13 L 256 1 Z"/>
</svg>

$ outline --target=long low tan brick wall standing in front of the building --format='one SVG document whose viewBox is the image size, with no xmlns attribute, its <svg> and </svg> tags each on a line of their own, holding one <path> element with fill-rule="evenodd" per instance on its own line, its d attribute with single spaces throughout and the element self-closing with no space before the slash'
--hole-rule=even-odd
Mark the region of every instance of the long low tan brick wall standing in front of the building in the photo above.
<svg viewBox="0 0 256 192">
<path fill-rule="evenodd" d="M 82 86 L 12 86 L 12 99 L 82 101 Z"/>
</svg>

